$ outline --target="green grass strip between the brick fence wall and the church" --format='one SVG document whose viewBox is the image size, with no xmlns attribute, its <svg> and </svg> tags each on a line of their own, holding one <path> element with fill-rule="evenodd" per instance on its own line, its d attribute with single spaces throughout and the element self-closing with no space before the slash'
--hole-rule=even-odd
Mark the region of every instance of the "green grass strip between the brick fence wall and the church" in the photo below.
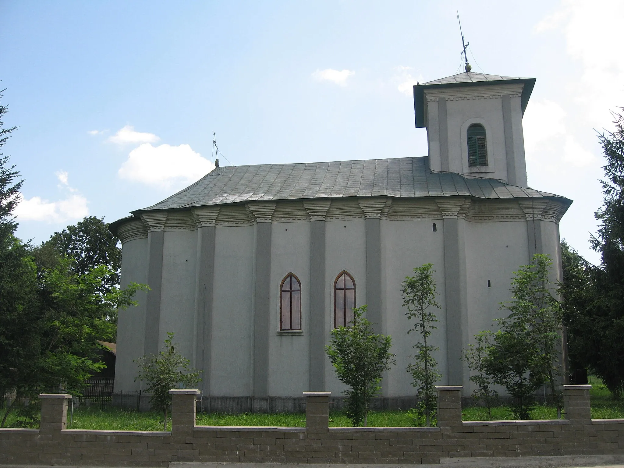
<svg viewBox="0 0 624 468">
<path fill-rule="evenodd" d="M 624 400 L 614 401 L 611 393 L 600 379 L 590 378 L 593 388 L 592 417 L 595 419 L 624 418 Z M 4 416 L 3 411 L 0 414 Z M 531 412 L 531 419 L 555 419 L 557 410 L 553 407 L 537 405 Z M 563 416 L 565 417 L 565 415 Z M 80 407 L 74 409 L 73 421 L 70 423 L 71 407 L 67 414 L 68 429 L 109 429 L 117 431 L 162 431 L 162 414 L 157 412 L 125 411 L 119 408 Z M 467 407 L 462 411 L 464 421 L 486 421 L 490 419 L 487 409 L 479 406 Z M 509 409 L 504 406 L 492 408 L 494 420 L 513 419 Z M 305 426 L 305 414 L 198 414 L 197 424 L 200 426 Z M 368 416 L 369 426 L 414 426 L 414 417 L 407 411 L 371 411 Z M 19 427 L 14 412 L 7 419 L 7 427 Z M 329 415 L 329 426 L 351 426 L 349 419 L 340 412 Z M 171 422 L 168 424 L 171 429 Z"/>
</svg>

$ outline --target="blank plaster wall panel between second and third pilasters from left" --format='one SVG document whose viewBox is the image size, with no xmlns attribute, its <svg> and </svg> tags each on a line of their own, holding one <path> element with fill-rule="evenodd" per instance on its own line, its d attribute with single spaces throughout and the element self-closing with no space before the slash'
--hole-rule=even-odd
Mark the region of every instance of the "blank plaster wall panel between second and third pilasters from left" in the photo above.
<svg viewBox="0 0 624 468">
<path fill-rule="evenodd" d="M 210 394 L 250 396 L 253 226 L 217 226 Z"/>
</svg>

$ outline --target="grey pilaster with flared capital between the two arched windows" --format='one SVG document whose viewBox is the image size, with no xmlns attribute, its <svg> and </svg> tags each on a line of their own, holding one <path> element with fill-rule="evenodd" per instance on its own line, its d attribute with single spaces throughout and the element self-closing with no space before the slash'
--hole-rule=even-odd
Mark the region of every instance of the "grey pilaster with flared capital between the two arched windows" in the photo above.
<svg viewBox="0 0 624 468">
<path fill-rule="evenodd" d="M 310 215 L 310 389 L 325 389 L 325 217 L 331 200 L 308 200 Z"/>
</svg>

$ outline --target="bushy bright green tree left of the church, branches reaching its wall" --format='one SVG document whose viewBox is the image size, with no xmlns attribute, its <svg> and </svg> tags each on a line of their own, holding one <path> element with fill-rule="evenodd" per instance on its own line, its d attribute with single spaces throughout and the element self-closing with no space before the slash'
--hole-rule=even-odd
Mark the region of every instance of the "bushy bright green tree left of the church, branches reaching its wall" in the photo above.
<svg viewBox="0 0 624 468">
<path fill-rule="evenodd" d="M 22 397 L 36 400 L 42 391 L 59 388 L 79 394 L 85 381 L 104 366 L 95 353 L 100 348 L 97 339 L 111 336 L 110 310 L 136 305 L 132 297 L 146 288 L 131 283 L 102 294 L 102 283 L 112 272 L 100 265 L 76 275 L 71 262 L 63 258 L 37 280 L 34 263 L 26 256 L 21 280 L 29 288 L 24 306 L 0 314 L 0 385 L 4 391 L 16 391 L 14 402 Z"/>
</svg>

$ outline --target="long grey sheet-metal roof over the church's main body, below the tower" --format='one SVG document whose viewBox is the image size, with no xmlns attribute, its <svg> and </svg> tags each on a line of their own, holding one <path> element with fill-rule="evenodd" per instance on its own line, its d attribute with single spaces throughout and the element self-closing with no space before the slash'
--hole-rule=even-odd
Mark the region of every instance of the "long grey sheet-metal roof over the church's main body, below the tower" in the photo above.
<svg viewBox="0 0 624 468">
<path fill-rule="evenodd" d="M 184 190 L 132 212 L 255 200 L 343 197 L 565 197 L 490 178 L 429 170 L 427 157 L 218 167 Z M 569 202 L 569 200 L 567 200 Z M 570 202 L 571 203 L 571 202 Z"/>
</svg>

